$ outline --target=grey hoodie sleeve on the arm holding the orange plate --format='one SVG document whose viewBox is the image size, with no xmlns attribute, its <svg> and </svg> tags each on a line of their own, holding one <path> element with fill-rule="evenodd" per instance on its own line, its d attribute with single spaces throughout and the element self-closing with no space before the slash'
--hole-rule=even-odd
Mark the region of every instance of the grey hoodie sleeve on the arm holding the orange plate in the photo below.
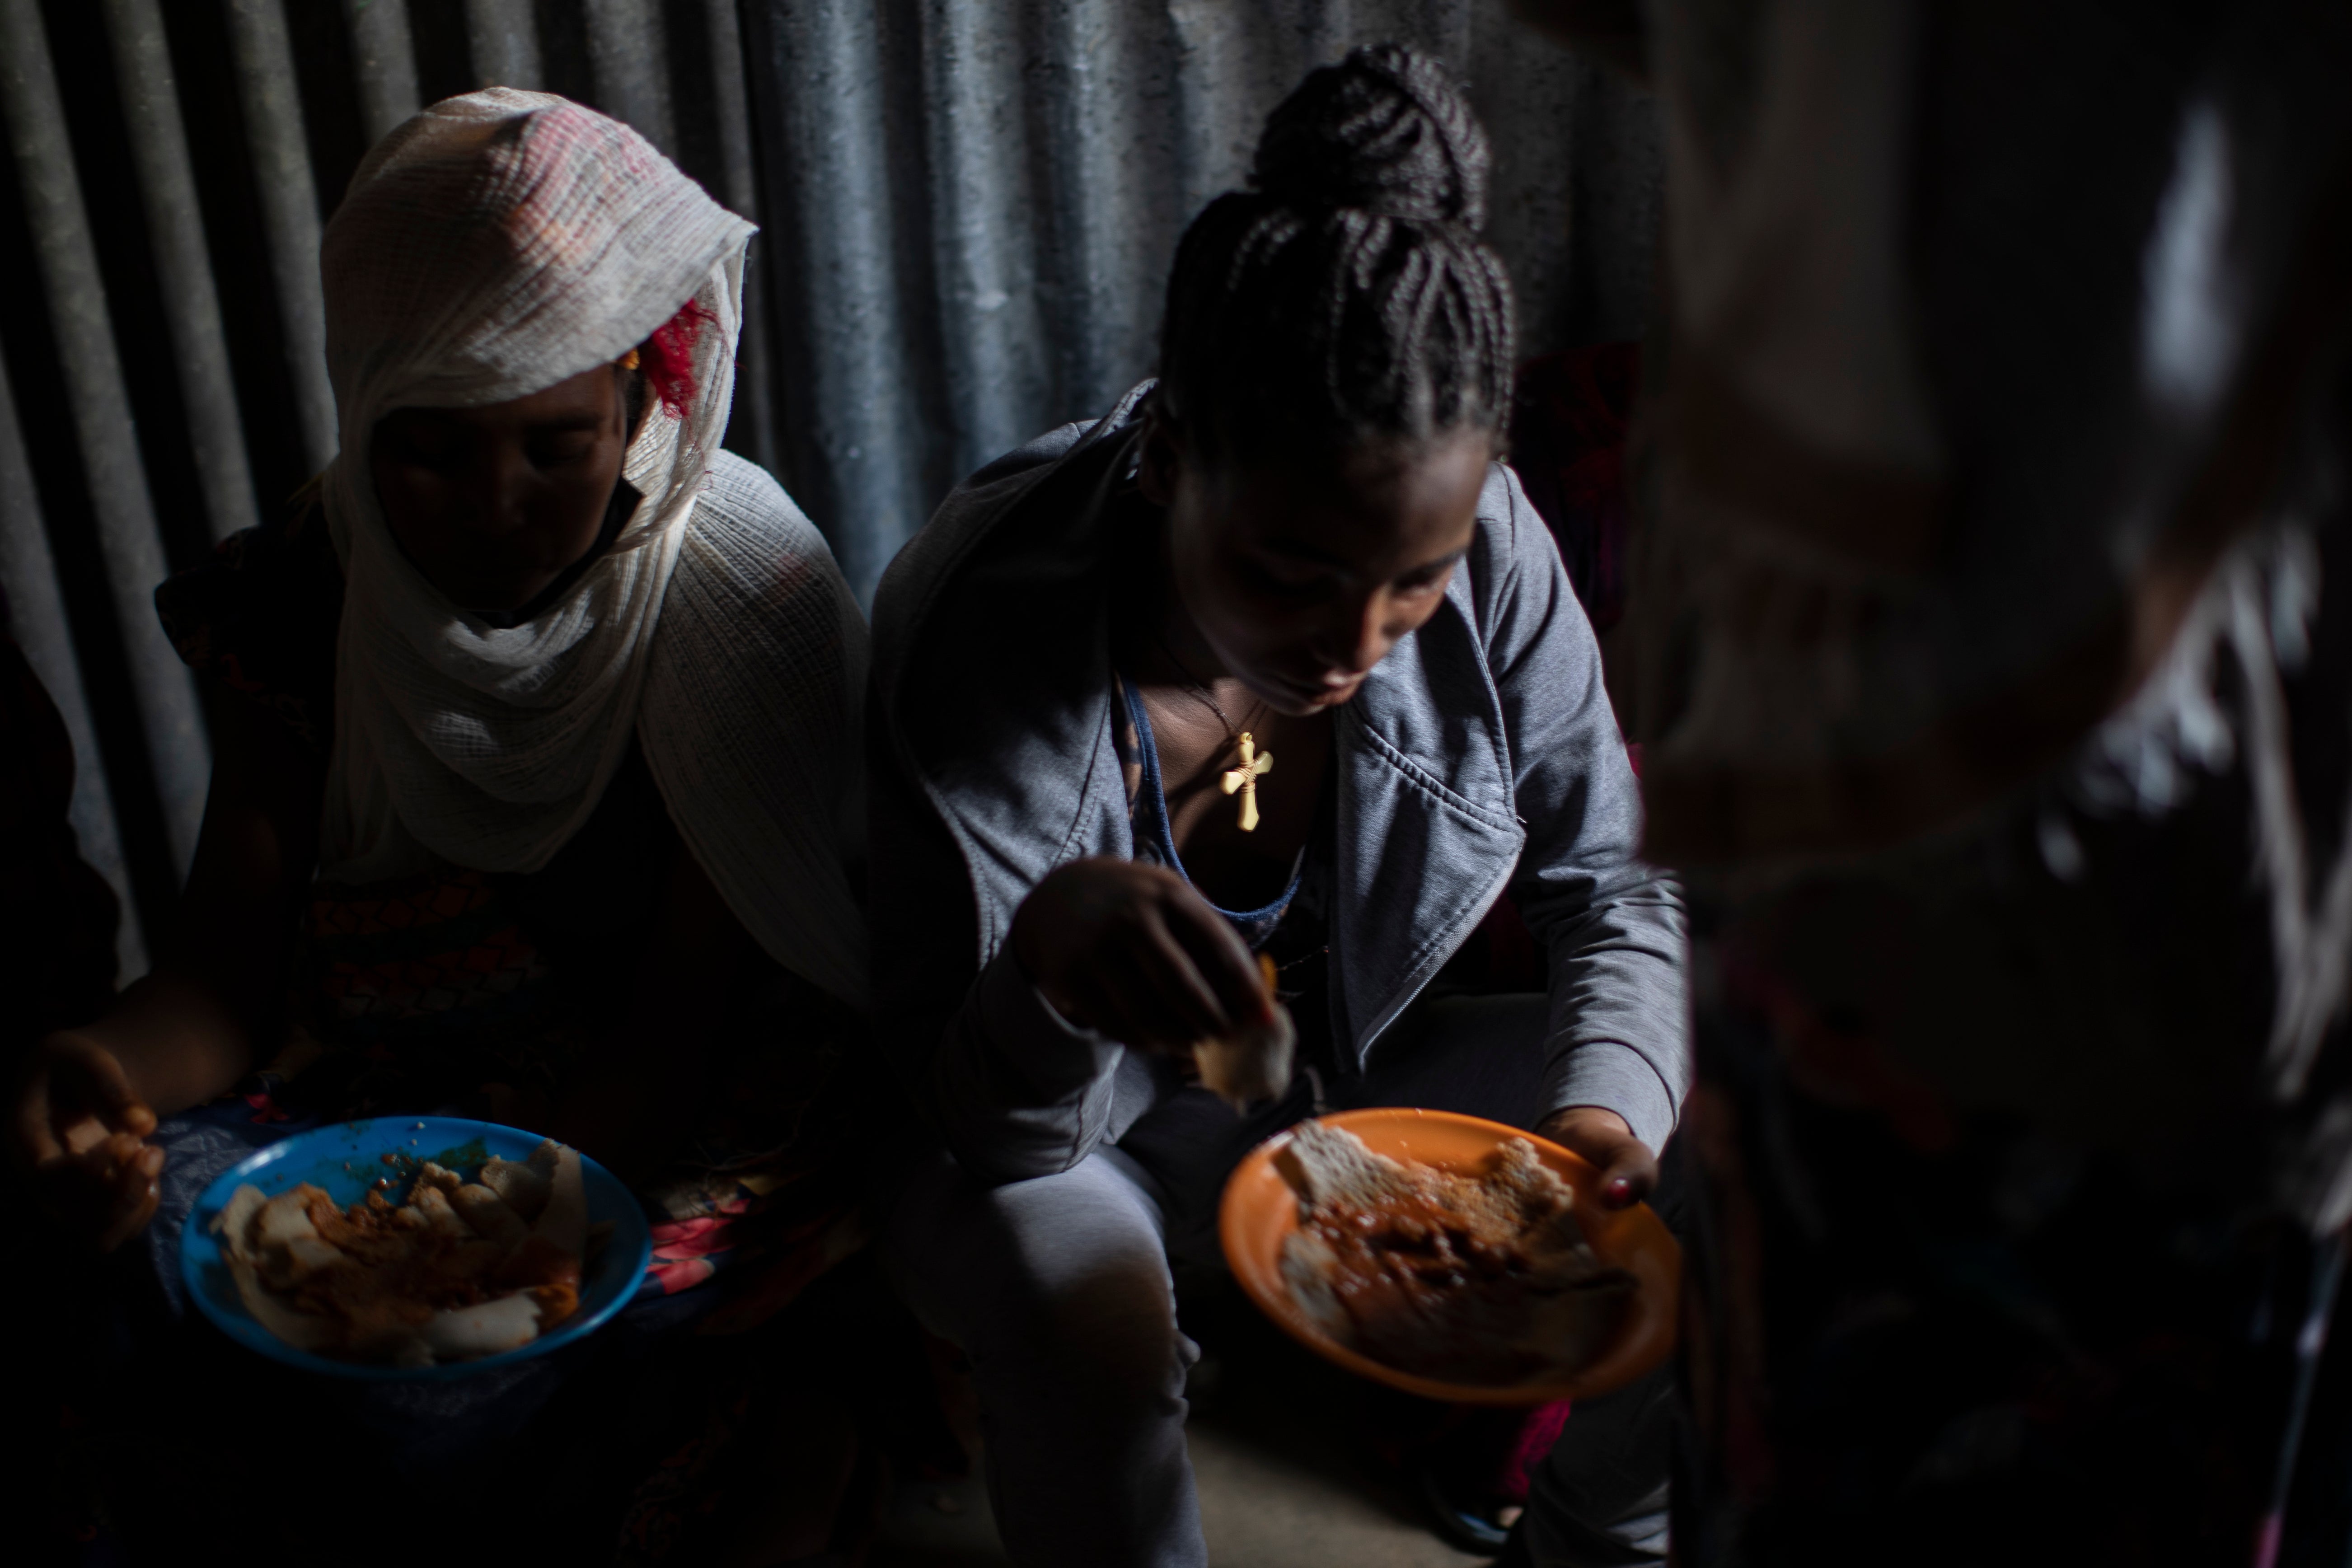
<svg viewBox="0 0 2352 1568">
<path fill-rule="evenodd" d="M 1642 795 L 1599 644 L 1501 463 L 1479 515 L 1477 604 L 1526 823 L 1512 896 L 1550 957 L 1543 1112 L 1599 1105 L 1656 1150 L 1691 1084 L 1682 891 L 1639 860 Z"/>
</svg>

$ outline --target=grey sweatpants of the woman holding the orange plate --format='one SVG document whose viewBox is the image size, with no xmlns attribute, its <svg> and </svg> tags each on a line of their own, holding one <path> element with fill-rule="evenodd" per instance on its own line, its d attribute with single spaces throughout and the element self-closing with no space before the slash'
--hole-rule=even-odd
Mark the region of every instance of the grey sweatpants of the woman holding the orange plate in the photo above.
<svg viewBox="0 0 2352 1568">
<path fill-rule="evenodd" d="M 1421 1105 L 1534 1126 L 1543 1027 L 1543 997 L 1428 1004 L 1383 1041 L 1364 1081 L 1334 1086 L 1329 1107 Z M 1240 1124 L 1192 1088 L 1058 1175 L 985 1187 L 950 1154 L 910 1173 L 884 1258 L 915 1314 L 971 1359 L 997 1530 L 1021 1568 L 1207 1563 L 1183 1441 L 1185 1371 L 1200 1352 L 1176 1328 L 1169 1253 L 1216 1255 L 1225 1175 L 1310 1110 L 1301 1084 L 1279 1112 Z M 1644 1422 L 1623 1436 L 1578 1432 L 1646 1505 L 1663 1493 L 1665 1432 Z M 1599 1490 L 1611 1497 L 1595 1497 L 1566 1537 L 1611 1554 L 1538 1559 L 1543 1568 L 1663 1561 L 1646 1549 L 1663 1535 L 1663 1497 L 1628 1509 L 1621 1486 Z M 1538 1486 L 1531 1507 L 1559 1495 Z"/>
</svg>

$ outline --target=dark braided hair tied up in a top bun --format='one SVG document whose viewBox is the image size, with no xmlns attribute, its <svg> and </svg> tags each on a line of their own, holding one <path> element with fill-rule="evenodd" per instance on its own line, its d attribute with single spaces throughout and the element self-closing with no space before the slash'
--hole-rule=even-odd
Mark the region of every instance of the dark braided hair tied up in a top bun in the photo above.
<svg viewBox="0 0 2352 1568">
<path fill-rule="evenodd" d="M 1249 183 L 1192 219 L 1160 327 L 1160 414 L 1204 458 L 1501 430 L 1486 134 L 1437 61 L 1378 45 L 1312 71 Z"/>
</svg>

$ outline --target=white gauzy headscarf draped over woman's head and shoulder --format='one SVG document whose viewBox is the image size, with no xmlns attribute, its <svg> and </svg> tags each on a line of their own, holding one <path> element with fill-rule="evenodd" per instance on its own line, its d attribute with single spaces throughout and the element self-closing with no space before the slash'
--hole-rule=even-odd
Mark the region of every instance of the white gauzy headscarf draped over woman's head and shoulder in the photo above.
<svg viewBox="0 0 2352 1568">
<path fill-rule="evenodd" d="M 437 860 L 541 870 L 628 757 L 656 628 L 673 663 L 741 651 L 741 628 L 691 625 L 696 611 L 677 604 L 673 625 L 663 602 L 680 599 L 670 581 L 727 430 L 750 235 L 633 129 L 550 94 L 492 87 L 447 99 L 360 165 L 320 252 L 343 437 L 325 505 L 346 581 L 320 844 L 327 879 L 379 882 Z M 369 475 L 376 421 L 400 407 L 546 390 L 612 364 L 687 301 L 715 317 L 694 348 L 694 400 L 684 418 L 647 407 L 623 461 L 642 503 L 612 548 L 522 625 L 494 628 L 452 604 L 386 529 Z M 823 559 L 837 583 L 830 567 Z M 830 644 L 793 670 L 706 672 L 706 686 L 746 686 L 729 693 L 734 712 L 776 708 L 750 691 L 760 682 L 863 677 L 863 628 L 844 625 L 844 590 L 818 583 L 788 604 L 741 588 L 684 597 L 706 618 L 797 618 L 781 628 L 786 642 L 804 630 Z M 779 628 L 767 632 L 776 639 Z M 696 743 L 706 726 L 694 717 L 647 726 L 644 748 L 670 816 L 736 917 L 779 961 L 863 1001 L 863 926 L 837 839 L 856 816 L 837 799 L 856 788 L 854 757 L 811 769 L 793 755 L 856 750 L 854 717 L 837 710 L 858 693 L 828 696 L 800 705 L 826 710 L 828 733 L 753 745 L 729 736 L 746 769 L 781 764 L 764 780 L 729 780 L 731 790 L 675 788 L 710 771 L 708 757 L 659 755 Z M 746 875 L 746 858 L 762 863 Z"/>
</svg>

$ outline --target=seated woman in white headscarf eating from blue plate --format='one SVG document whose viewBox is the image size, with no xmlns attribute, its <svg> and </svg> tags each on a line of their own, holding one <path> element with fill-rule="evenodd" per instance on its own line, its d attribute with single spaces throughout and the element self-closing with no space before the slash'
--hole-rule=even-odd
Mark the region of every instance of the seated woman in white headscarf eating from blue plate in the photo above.
<svg viewBox="0 0 2352 1568">
<path fill-rule="evenodd" d="M 543 94 L 360 165 L 322 247 L 341 456 L 158 592 L 216 677 L 179 940 L 14 1105 L 73 1239 L 143 1229 L 172 1291 L 228 1161 L 463 1107 L 635 1180 L 659 1293 L 764 1255 L 736 1324 L 854 1248 L 866 628 L 720 449 L 750 233 Z"/>
</svg>

